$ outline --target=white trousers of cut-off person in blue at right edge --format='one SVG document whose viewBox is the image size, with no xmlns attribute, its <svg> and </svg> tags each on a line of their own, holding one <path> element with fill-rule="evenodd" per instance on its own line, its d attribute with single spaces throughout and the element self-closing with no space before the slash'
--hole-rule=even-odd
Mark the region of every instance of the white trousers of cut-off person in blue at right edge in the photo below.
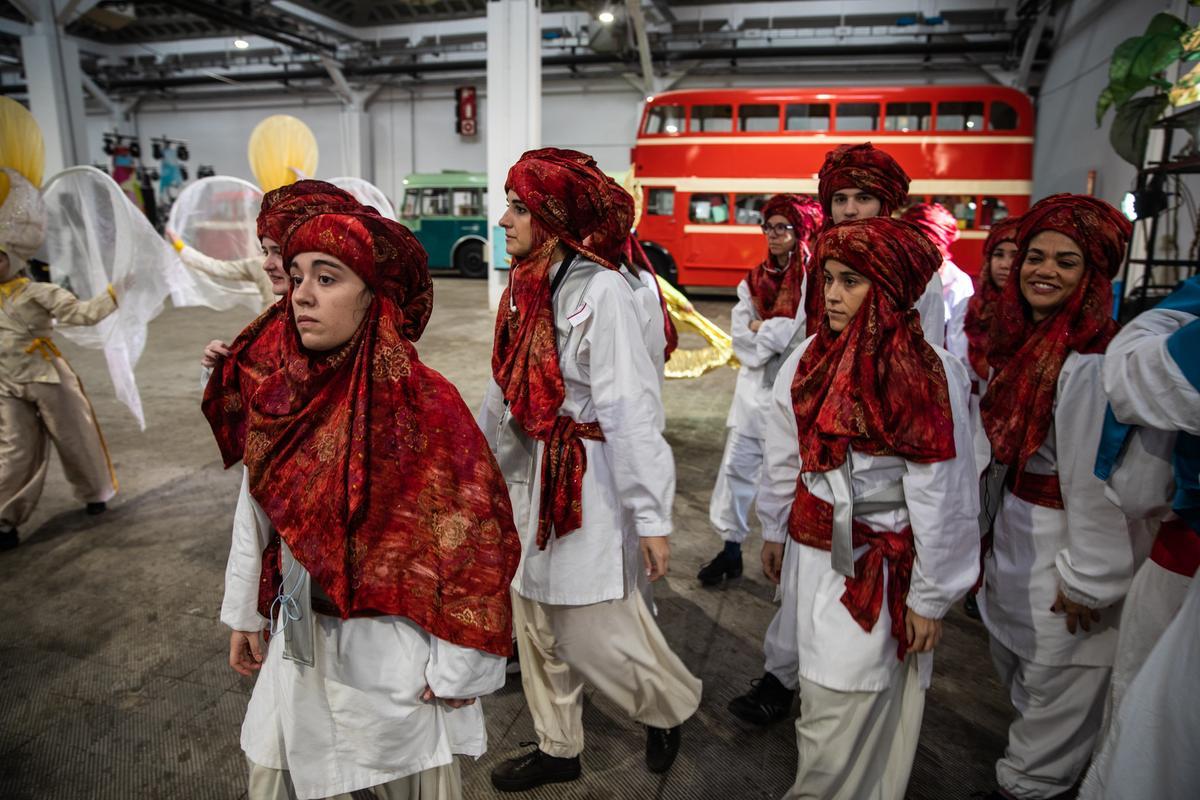
<svg viewBox="0 0 1200 800">
<path fill-rule="evenodd" d="M 1150 560 L 1134 576 L 1121 614 L 1109 727 L 1084 778 L 1081 800 L 1196 795 L 1200 593 L 1193 583 Z"/>
</svg>

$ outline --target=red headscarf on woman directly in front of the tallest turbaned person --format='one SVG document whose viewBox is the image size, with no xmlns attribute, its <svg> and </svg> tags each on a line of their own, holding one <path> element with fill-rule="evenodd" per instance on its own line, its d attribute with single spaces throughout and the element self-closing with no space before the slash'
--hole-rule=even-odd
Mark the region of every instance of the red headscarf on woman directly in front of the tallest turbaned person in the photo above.
<svg viewBox="0 0 1200 800">
<path fill-rule="evenodd" d="M 946 371 L 913 303 L 942 263 L 929 237 L 892 217 L 834 225 L 816 242 L 814 269 L 834 259 L 871 281 L 840 333 L 821 320 L 792 380 L 806 473 L 835 469 L 850 447 L 930 463 L 954 457 Z"/>
</svg>

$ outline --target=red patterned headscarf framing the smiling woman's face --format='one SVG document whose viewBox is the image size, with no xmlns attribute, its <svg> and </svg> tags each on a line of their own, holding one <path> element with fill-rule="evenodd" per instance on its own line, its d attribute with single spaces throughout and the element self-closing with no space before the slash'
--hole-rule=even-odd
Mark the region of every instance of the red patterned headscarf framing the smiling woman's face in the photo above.
<svg viewBox="0 0 1200 800">
<path fill-rule="evenodd" d="M 1043 230 L 1070 237 L 1084 254 L 1075 291 L 1034 323 L 1021 295 L 1021 265 Z M 1124 260 L 1133 225 L 1120 211 L 1085 194 L 1052 194 L 1021 217 L 1016 261 L 995 306 L 988 361 L 996 369 L 980 404 L 996 461 L 1022 467 L 1045 441 L 1054 420 L 1058 373 L 1072 353 L 1104 353 L 1117 332 L 1112 277 Z"/>
</svg>

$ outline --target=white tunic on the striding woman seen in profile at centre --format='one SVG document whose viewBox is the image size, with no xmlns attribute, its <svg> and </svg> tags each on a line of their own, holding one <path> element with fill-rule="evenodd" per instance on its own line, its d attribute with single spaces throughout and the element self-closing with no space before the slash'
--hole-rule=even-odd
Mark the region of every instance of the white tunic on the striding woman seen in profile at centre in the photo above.
<svg viewBox="0 0 1200 800">
<path fill-rule="evenodd" d="M 556 320 L 565 385 L 559 413 L 598 421 L 605 440 L 583 440 L 583 525 L 552 535 L 544 551 L 536 545 L 542 443 L 533 479 L 509 483 L 522 545 L 512 588 L 522 597 L 562 606 L 624 597 L 643 569 L 638 537 L 671 534 L 674 458 L 658 420 L 659 375 L 642 338 L 641 308 L 625 278 L 605 270 L 590 279 L 578 307 Z M 500 387 L 491 380 L 479 423 L 493 450 L 506 419 Z"/>
</svg>

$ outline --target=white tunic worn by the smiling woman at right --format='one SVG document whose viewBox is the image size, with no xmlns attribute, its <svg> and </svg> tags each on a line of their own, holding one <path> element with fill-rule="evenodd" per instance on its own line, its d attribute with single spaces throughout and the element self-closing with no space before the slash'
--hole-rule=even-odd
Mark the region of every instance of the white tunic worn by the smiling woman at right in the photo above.
<svg viewBox="0 0 1200 800">
<path fill-rule="evenodd" d="M 1104 422 L 1103 362 L 1102 354 L 1067 356 L 1050 432 L 1026 464 L 1030 473 L 1057 473 L 1064 509 L 1038 506 L 1004 489 L 984 564 L 979 610 L 988 632 L 1044 666 L 1112 664 L 1120 601 L 1135 570 L 1141 527 L 1130 528 L 1093 473 Z M 1146 545 L 1138 547 L 1145 552 Z M 1070 633 L 1066 616 L 1050 610 L 1060 588 L 1100 612 L 1091 633 Z"/>
</svg>

